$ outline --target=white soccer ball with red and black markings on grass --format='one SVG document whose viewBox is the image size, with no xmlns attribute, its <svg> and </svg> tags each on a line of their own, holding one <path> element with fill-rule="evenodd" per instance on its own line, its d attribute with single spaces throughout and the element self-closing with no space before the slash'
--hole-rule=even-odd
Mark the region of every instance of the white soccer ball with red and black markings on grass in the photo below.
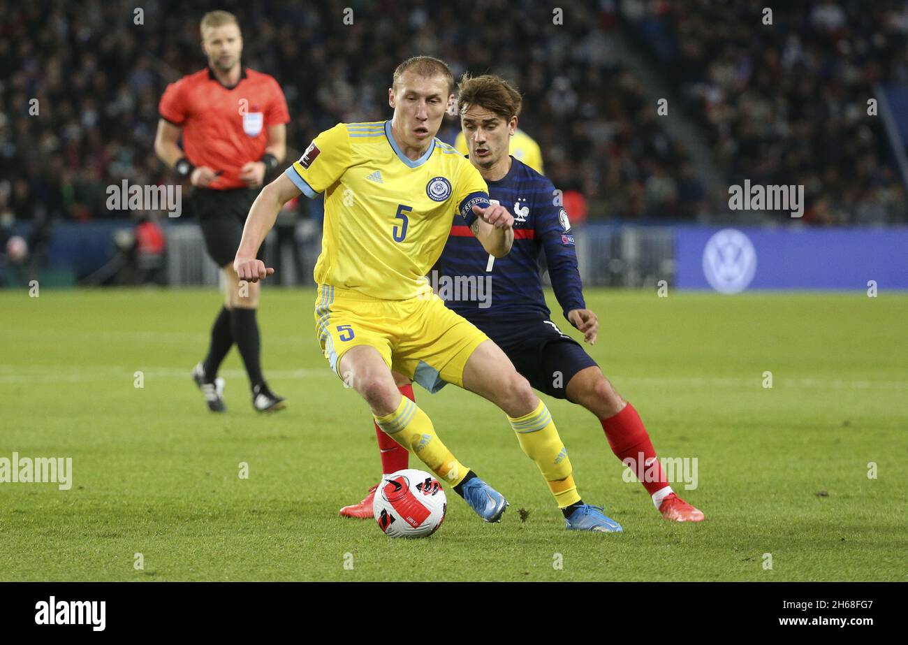
<svg viewBox="0 0 908 645">
<path fill-rule="evenodd" d="M 384 475 L 375 491 L 372 514 L 390 538 L 426 538 L 438 531 L 448 498 L 430 472 L 409 468 Z"/>
</svg>

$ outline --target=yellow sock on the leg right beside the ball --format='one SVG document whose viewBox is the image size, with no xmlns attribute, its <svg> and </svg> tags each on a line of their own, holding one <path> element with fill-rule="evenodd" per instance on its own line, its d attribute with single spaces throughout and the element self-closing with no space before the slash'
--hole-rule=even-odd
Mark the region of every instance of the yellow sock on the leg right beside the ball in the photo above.
<svg viewBox="0 0 908 645">
<path fill-rule="evenodd" d="M 441 442 L 429 415 L 406 396 L 400 397 L 397 410 L 387 416 L 375 417 L 375 422 L 391 439 L 419 457 L 430 471 L 450 486 L 457 486 L 467 476 L 469 468 L 457 461 Z"/>
</svg>

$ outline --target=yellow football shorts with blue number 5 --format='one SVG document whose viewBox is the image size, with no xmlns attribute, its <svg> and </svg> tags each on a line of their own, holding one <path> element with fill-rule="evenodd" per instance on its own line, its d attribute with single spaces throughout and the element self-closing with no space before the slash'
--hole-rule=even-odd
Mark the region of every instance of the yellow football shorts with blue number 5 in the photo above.
<svg viewBox="0 0 908 645">
<path fill-rule="evenodd" d="M 315 333 L 331 369 L 341 379 L 341 357 L 369 345 L 395 372 L 438 392 L 446 383 L 463 387 L 470 354 L 489 336 L 435 293 L 409 300 L 380 300 L 353 289 L 319 285 Z"/>
</svg>

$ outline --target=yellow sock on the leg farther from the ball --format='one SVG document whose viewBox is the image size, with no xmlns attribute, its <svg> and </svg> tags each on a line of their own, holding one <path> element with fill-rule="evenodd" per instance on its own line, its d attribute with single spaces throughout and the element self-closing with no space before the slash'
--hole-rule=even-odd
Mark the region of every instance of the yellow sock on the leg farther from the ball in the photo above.
<svg viewBox="0 0 908 645">
<path fill-rule="evenodd" d="M 508 417 L 508 421 L 514 432 L 517 432 L 520 448 L 531 460 L 536 461 L 558 507 L 563 509 L 580 501 L 571 474 L 568 449 L 558 436 L 558 428 L 555 427 L 546 404 L 540 401 L 533 412 L 522 417 Z"/>
</svg>

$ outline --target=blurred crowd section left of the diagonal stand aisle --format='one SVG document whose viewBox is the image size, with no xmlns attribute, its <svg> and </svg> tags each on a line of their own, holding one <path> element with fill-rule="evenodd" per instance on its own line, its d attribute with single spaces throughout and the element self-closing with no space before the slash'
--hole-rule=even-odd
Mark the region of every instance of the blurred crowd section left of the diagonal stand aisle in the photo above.
<svg viewBox="0 0 908 645">
<path fill-rule="evenodd" d="M 494 71 L 525 94 L 520 127 L 542 146 L 556 187 L 577 183 L 591 218 L 642 217 L 647 179 L 677 181 L 677 153 L 647 109 L 640 84 L 617 65 L 613 2 L 566 6 L 518 0 L 468 5 L 429 0 L 354 3 L 225 0 L 243 25 L 243 61 L 278 78 L 291 108 L 288 144 L 301 154 L 339 121 L 387 118 L 390 74 L 410 55 L 437 55 L 455 74 Z M 164 86 L 200 68 L 201 9 L 175 0 L 0 5 L 0 176 L 17 219 L 44 208 L 84 221 L 123 216 L 104 190 L 173 182 L 153 154 Z M 515 19 L 519 16 L 519 19 Z M 6 72 L 8 70 L 8 72 Z M 38 99 L 39 114 L 29 115 Z M 442 136 L 456 134 L 449 123 Z M 292 152 L 292 151 L 291 151 Z M 654 212 L 661 209 L 654 206 Z M 690 209 L 688 209 L 689 211 Z M 134 213 L 131 213 L 134 215 Z"/>
</svg>

